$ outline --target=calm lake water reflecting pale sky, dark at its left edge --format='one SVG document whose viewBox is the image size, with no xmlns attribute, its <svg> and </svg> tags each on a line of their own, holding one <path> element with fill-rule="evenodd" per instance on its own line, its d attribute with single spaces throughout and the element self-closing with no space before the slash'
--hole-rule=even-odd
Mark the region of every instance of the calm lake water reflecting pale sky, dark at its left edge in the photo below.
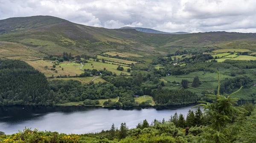
<svg viewBox="0 0 256 143">
<path fill-rule="evenodd" d="M 137 107 L 112 109 L 102 107 L 58 107 L 58 106 L 0 106 L 0 131 L 12 134 L 25 128 L 38 128 L 40 131 L 84 134 L 100 132 L 111 128 L 112 123 L 120 126 L 126 123 L 129 128 L 147 119 L 149 123 L 169 120 L 175 112 L 186 116 L 196 104 L 169 107 Z M 196 110 L 196 109 L 193 109 Z"/>
</svg>

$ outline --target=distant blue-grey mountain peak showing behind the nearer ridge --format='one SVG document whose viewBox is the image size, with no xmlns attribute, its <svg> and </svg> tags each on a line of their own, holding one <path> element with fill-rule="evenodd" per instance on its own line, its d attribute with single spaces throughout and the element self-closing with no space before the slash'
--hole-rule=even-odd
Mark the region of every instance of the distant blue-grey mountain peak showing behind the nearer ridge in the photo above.
<svg viewBox="0 0 256 143">
<path fill-rule="evenodd" d="M 174 33 L 169 33 L 169 32 L 163 32 L 163 31 L 158 31 L 150 28 L 141 28 L 141 27 L 121 27 L 119 29 L 135 29 L 137 31 L 145 32 L 145 33 L 154 33 L 154 34 L 189 34 L 187 32 L 174 32 Z"/>
</svg>

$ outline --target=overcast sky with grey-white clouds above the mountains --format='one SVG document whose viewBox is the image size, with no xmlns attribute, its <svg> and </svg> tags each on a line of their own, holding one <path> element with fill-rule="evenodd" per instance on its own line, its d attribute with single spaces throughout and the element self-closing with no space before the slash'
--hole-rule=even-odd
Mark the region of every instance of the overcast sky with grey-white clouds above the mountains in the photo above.
<svg viewBox="0 0 256 143">
<path fill-rule="evenodd" d="M 256 32 L 256 0 L 0 0 L 0 20 L 34 15 L 105 28 Z"/>
</svg>

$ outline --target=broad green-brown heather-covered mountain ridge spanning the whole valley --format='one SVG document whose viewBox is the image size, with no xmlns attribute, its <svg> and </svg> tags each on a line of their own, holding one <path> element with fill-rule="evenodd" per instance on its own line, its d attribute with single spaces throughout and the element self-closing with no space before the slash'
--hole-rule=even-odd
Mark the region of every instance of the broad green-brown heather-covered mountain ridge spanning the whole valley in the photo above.
<svg viewBox="0 0 256 143">
<path fill-rule="evenodd" d="M 61 55 L 63 51 L 91 55 L 119 51 L 140 52 L 150 56 L 176 50 L 206 50 L 206 47 L 254 50 L 255 37 L 255 34 L 251 33 L 223 31 L 152 34 L 131 28 L 107 29 L 86 26 L 52 16 L 13 17 L 0 20 L 0 42 L 17 43 L 47 55 Z"/>
</svg>

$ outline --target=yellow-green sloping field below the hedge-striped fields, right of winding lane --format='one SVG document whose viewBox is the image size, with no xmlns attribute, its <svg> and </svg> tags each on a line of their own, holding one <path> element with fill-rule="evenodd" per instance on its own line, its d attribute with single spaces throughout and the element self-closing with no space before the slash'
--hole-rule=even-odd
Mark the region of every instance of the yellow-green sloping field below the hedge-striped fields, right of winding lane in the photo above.
<svg viewBox="0 0 256 143">
<path fill-rule="evenodd" d="M 93 64 L 93 65 L 91 65 Z M 106 68 L 106 70 L 111 71 L 112 73 L 116 73 L 117 75 L 120 75 L 120 73 L 126 73 L 128 75 L 131 75 L 130 73 L 127 72 L 128 68 L 131 67 L 124 67 L 123 71 L 117 70 L 116 68 L 118 67 L 118 65 L 115 64 L 108 64 L 108 63 L 103 63 L 103 62 L 95 62 L 95 61 L 90 61 L 88 60 L 87 63 L 84 63 L 83 69 L 96 69 L 96 70 L 104 70 L 104 68 Z"/>
</svg>

